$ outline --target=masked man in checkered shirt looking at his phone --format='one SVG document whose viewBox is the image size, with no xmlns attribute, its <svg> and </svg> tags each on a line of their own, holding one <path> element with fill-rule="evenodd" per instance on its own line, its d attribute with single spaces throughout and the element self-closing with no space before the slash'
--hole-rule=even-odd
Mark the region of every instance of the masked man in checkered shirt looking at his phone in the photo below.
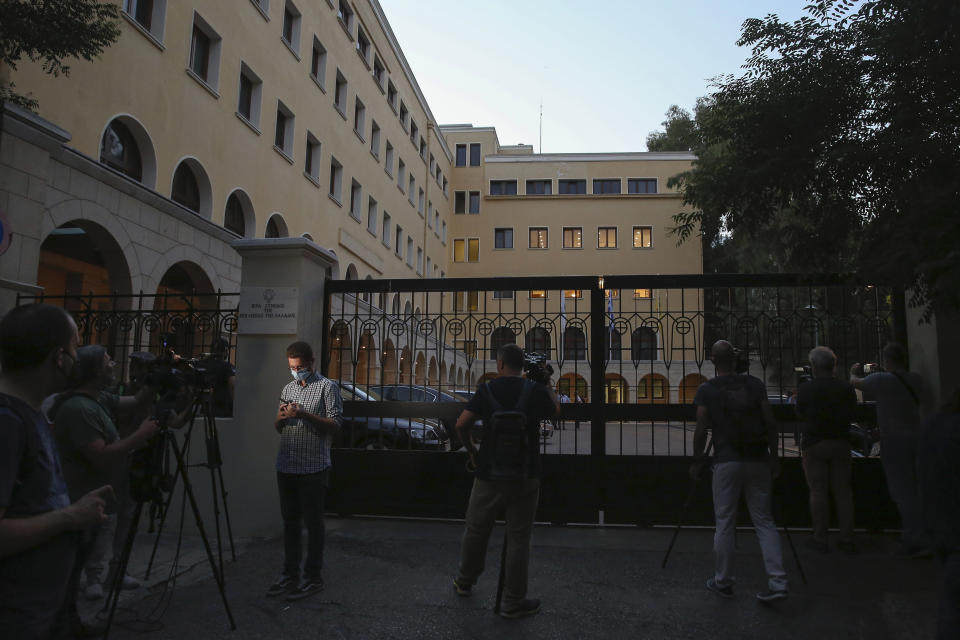
<svg viewBox="0 0 960 640">
<path fill-rule="evenodd" d="M 274 427 L 280 434 L 277 488 L 283 516 L 283 574 L 267 596 L 299 600 L 323 589 L 323 501 L 329 485 L 330 442 L 343 424 L 340 388 L 314 370 L 306 342 L 287 347 L 293 382 L 280 392 Z M 307 559 L 300 571 L 300 533 L 307 526 Z"/>
</svg>

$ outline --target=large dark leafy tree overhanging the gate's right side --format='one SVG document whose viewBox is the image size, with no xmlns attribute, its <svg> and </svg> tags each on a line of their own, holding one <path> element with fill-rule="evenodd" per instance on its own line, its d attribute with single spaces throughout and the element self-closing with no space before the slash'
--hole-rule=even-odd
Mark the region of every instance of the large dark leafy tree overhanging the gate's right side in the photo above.
<svg viewBox="0 0 960 640">
<path fill-rule="evenodd" d="M 675 232 L 911 287 L 928 314 L 960 308 L 960 6 L 807 12 L 744 22 L 745 72 L 715 80 L 698 159 L 671 180 L 691 207 Z"/>
</svg>

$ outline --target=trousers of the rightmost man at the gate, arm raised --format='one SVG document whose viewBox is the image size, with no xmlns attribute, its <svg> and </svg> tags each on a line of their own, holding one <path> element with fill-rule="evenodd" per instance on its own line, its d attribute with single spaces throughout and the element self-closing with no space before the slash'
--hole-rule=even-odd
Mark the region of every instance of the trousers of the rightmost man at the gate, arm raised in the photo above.
<svg viewBox="0 0 960 640">
<path fill-rule="evenodd" d="M 917 446 L 914 435 L 887 436 L 880 442 L 880 463 L 890 498 L 896 503 L 903 527 L 901 539 L 908 547 L 925 546 L 917 480 Z"/>
</svg>

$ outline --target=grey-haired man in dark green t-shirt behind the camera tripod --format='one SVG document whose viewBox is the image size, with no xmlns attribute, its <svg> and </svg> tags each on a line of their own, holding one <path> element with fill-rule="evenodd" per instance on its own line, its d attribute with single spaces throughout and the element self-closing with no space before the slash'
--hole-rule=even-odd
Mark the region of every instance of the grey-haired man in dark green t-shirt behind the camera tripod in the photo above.
<svg viewBox="0 0 960 640">
<path fill-rule="evenodd" d="M 105 407 L 112 401 L 106 390 L 115 384 L 115 364 L 100 345 L 77 349 L 75 386 L 57 397 L 50 417 L 70 498 L 76 500 L 96 487 L 111 484 L 117 493 L 118 509 L 123 510 L 128 503 L 129 454 L 146 445 L 158 425 L 155 419 L 147 418 L 132 434 L 120 437 Z M 103 597 L 103 563 L 109 547 L 113 547 L 114 558 L 119 559 L 123 541 L 116 533 L 116 512 L 109 514 L 99 527 L 87 531 L 81 561 L 87 580 L 84 593 L 89 599 Z M 136 586 L 135 581 L 126 583 L 128 588 Z"/>
</svg>

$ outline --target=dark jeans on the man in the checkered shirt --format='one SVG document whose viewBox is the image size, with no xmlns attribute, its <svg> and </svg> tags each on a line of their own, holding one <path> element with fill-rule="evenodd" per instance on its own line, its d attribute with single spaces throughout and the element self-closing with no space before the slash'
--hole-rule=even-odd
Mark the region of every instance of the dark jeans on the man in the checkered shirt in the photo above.
<svg viewBox="0 0 960 640">
<path fill-rule="evenodd" d="M 280 515 L 283 517 L 283 574 L 294 580 L 300 575 L 300 538 L 307 527 L 307 560 L 302 575 L 320 579 L 323 568 L 323 501 L 327 495 L 328 471 L 320 473 L 277 473 Z"/>
</svg>

